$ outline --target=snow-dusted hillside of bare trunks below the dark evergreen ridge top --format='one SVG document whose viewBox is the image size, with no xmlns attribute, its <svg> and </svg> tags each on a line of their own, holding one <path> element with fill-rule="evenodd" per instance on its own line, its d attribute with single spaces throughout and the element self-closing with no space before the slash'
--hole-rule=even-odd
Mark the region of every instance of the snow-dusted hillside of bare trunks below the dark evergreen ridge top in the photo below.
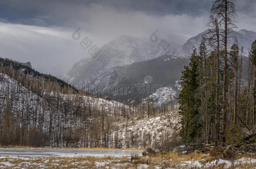
<svg viewBox="0 0 256 169">
<path fill-rule="evenodd" d="M 138 107 L 117 101 L 82 94 L 42 93 L 39 96 L 10 76 L 0 74 L 1 120 L 14 121 L 17 131 L 24 127 L 23 132 L 36 132 L 33 137 L 24 137 L 36 141 L 36 145 L 46 139 L 48 146 L 144 148 L 162 145 L 161 141 L 179 128 L 178 112 L 154 118 L 151 114 L 147 119 L 143 108 L 138 112 Z"/>
</svg>

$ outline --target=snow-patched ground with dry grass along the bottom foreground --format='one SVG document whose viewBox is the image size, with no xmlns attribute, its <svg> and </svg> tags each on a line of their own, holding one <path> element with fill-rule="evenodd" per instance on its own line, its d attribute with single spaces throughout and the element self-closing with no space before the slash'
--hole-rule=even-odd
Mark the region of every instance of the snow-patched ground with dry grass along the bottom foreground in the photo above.
<svg viewBox="0 0 256 169">
<path fill-rule="evenodd" d="M 201 154 L 203 155 L 203 154 Z M 20 157 L 0 156 L 0 168 L 85 168 L 85 169 L 189 169 L 189 168 L 231 168 L 231 161 L 223 159 L 212 160 L 210 157 L 199 160 L 192 156 L 167 156 L 155 157 Z M 191 158 L 191 159 L 190 159 Z M 253 169 L 256 167 L 256 159 L 242 157 L 234 161 L 235 169 Z"/>
</svg>

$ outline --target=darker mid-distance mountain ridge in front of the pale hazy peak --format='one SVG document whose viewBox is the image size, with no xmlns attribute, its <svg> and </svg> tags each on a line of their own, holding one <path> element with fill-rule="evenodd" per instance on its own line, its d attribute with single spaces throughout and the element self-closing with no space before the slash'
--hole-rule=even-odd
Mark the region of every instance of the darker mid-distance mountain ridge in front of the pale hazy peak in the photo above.
<svg viewBox="0 0 256 169">
<path fill-rule="evenodd" d="M 160 92 L 162 94 L 159 94 L 161 88 L 168 86 L 170 91 L 167 91 L 167 93 L 172 93 L 173 96 L 175 95 L 173 93 L 178 93 L 179 87 L 177 81 L 180 79 L 184 65 L 188 64 L 188 62 L 189 58 L 180 59 L 173 58 L 171 55 L 162 55 L 149 61 L 109 69 L 97 69 L 95 67 L 89 67 L 88 65 L 88 67 L 78 70 L 76 76 L 68 80 L 70 80 L 71 83 L 72 81 L 76 81 L 76 83 L 73 84 L 80 89 L 85 87 L 86 90 L 90 89 L 92 92 L 99 89 L 97 93 L 101 92 L 104 96 L 107 95 L 112 98 L 117 98 L 118 100 L 129 99 L 133 101 L 136 100 L 136 98 L 146 98 L 155 93 L 152 96 L 159 97 L 155 99 L 152 98 L 152 100 L 158 101 L 157 106 L 159 106 L 161 103 L 167 101 L 166 98 L 170 98 L 165 92 Z M 90 68 L 89 72 L 91 71 L 93 73 L 87 74 L 88 69 L 86 70 L 86 68 Z M 75 74 L 75 72 L 73 73 Z M 88 77 L 88 75 L 91 76 Z M 150 83 L 145 83 L 146 77 L 151 79 Z M 124 91 L 118 91 L 118 86 L 120 85 L 125 85 L 127 88 L 131 88 L 131 86 L 135 85 L 135 89 L 132 93 L 125 93 Z M 141 90 L 144 92 L 138 92 L 139 85 L 141 85 Z M 166 91 L 165 89 L 162 91 Z"/>
</svg>

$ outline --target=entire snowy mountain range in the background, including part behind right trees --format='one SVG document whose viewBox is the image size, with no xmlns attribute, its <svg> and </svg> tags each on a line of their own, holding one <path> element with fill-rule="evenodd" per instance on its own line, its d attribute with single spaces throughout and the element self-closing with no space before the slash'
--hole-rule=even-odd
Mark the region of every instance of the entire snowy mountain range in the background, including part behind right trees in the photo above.
<svg viewBox="0 0 256 169">
<path fill-rule="evenodd" d="M 186 43 L 178 48 L 175 48 L 177 45 L 170 45 L 172 48 L 168 49 L 168 52 L 160 50 L 159 43 L 152 43 L 146 38 L 121 36 L 101 48 L 110 59 L 105 67 L 100 66 L 99 61 L 89 58 L 76 63 L 61 78 L 76 87 L 84 86 L 85 83 L 93 86 L 100 85 L 102 91 L 104 91 L 107 86 L 113 87 L 122 83 L 123 79 L 132 84 L 145 84 L 144 78 L 150 76 L 153 79 L 151 85 L 162 85 L 160 87 L 162 91 L 166 91 L 165 86 L 172 86 L 169 91 L 163 94 L 160 94 L 159 91 L 143 93 L 144 97 L 150 96 L 151 100 L 159 106 L 169 99 L 166 93 L 179 93 L 175 82 L 180 79 L 181 71 L 184 65 L 188 63 L 193 49 L 199 49 L 202 35 L 207 31 L 188 39 Z M 256 33 L 248 30 L 238 32 L 232 30 L 230 36 L 237 38 L 240 48 L 243 46 L 244 56 L 248 55 L 251 44 L 256 40 Z M 230 38 L 230 40 L 232 43 L 235 42 L 234 38 Z M 112 93 L 104 91 L 103 94 L 118 97 L 121 100 L 136 99 L 129 96 L 129 94 L 120 94 L 115 90 Z"/>
</svg>

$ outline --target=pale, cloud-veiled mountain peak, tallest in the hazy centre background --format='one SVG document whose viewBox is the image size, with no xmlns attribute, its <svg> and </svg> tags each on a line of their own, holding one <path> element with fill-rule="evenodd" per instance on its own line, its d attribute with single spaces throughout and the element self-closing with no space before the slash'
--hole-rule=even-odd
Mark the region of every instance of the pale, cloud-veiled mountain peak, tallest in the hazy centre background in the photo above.
<svg viewBox="0 0 256 169">
<path fill-rule="evenodd" d="M 158 40 L 160 42 L 162 39 Z M 102 46 L 102 53 L 110 59 L 104 68 L 125 66 L 157 58 L 167 52 L 159 48 L 159 42 L 153 43 L 149 37 L 122 35 Z M 169 48 L 178 48 L 174 43 L 167 43 L 169 43 Z"/>
</svg>

